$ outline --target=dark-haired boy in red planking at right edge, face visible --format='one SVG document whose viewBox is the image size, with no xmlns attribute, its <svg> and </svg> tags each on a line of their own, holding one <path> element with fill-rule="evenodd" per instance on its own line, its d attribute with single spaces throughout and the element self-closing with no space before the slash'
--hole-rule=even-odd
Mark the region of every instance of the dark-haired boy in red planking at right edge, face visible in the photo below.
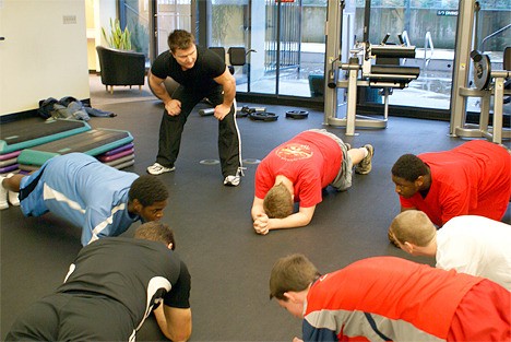
<svg viewBox="0 0 511 342">
<path fill-rule="evenodd" d="M 511 155 L 484 141 L 453 150 L 402 155 L 392 167 L 401 211 L 424 211 L 441 227 L 460 215 L 502 220 L 511 199 Z"/>
</svg>

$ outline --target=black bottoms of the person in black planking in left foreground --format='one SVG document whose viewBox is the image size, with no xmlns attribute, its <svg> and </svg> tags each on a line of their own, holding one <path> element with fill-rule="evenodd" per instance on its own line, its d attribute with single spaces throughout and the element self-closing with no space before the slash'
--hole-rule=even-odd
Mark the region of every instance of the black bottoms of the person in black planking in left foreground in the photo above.
<svg viewBox="0 0 511 342">
<path fill-rule="evenodd" d="M 134 341 L 134 329 L 128 309 L 117 300 L 58 293 L 17 317 L 5 341 Z"/>
</svg>

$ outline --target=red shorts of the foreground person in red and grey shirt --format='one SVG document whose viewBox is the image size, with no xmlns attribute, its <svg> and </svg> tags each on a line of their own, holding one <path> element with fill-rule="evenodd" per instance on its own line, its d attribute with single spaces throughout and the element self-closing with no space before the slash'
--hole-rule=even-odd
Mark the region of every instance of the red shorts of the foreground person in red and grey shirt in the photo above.
<svg viewBox="0 0 511 342">
<path fill-rule="evenodd" d="M 447 341 L 511 341 L 511 292 L 483 280 L 460 302 Z"/>
</svg>

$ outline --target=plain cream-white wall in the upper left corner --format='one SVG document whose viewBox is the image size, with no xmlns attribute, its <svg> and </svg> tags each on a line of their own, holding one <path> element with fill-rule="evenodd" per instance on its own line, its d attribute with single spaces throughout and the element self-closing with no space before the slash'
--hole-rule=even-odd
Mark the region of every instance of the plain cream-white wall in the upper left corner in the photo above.
<svg viewBox="0 0 511 342">
<path fill-rule="evenodd" d="M 91 97 L 84 0 L 0 0 L 0 116 Z"/>
</svg>

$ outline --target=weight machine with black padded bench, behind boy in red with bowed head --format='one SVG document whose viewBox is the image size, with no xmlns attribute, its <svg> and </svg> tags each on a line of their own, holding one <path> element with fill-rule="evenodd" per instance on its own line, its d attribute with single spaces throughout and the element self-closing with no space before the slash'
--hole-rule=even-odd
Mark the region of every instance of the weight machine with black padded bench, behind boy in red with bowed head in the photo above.
<svg viewBox="0 0 511 342">
<path fill-rule="evenodd" d="M 334 1 L 332 1 L 334 2 Z M 400 44 L 387 44 L 387 34 L 378 45 L 367 42 L 356 43 L 349 50 L 347 63 L 342 63 L 341 34 L 349 31 L 349 25 L 343 25 L 343 19 L 350 21 L 349 15 L 343 15 L 345 1 L 329 4 L 329 20 L 326 22 L 326 56 L 330 70 L 325 73 L 324 123 L 346 127 L 346 135 L 355 135 L 355 127 L 387 128 L 389 116 L 389 95 L 394 89 L 404 89 L 419 75 L 418 67 L 401 66 L 402 58 L 415 58 L 415 46 L 406 46 L 399 35 Z M 343 30 L 341 30 L 343 28 Z M 340 80 L 340 70 L 347 72 L 347 78 Z M 384 99 L 383 118 L 372 118 L 356 114 L 357 89 L 368 86 L 381 89 Z M 337 89 L 347 90 L 346 116 L 337 117 Z"/>
</svg>

